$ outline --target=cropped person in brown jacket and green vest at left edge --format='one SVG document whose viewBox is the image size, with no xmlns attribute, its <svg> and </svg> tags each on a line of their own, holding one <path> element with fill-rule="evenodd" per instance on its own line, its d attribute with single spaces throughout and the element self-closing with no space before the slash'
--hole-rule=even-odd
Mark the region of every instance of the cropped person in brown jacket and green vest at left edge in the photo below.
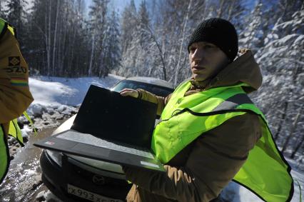
<svg viewBox="0 0 304 202">
<path fill-rule="evenodd" d="M 29 68 L 15 30 L 0 19 L 0 184 L 9 170 L 9 122 L 21 116 L 33 100 L 29 91 Z"/>
</svg>

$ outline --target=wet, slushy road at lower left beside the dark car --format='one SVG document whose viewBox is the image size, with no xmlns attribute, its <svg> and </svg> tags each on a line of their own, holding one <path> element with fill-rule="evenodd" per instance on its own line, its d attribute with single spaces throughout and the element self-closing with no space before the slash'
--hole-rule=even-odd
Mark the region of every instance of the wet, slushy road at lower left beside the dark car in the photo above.
<svg viewBox="0 0 304 202">
<path fill-rule="evenodd" d="M 37 194 L 48 190 L 41 181 L 39 157 L 42 150 L 33 146 L 33 143 L 50 136 L 55 128 L 44 128 L 37 135 L 31 134 L 24 148 L 17 149 L 9 172 L 0 186 L 0 201 L 38 201 Z"/>
</svg>

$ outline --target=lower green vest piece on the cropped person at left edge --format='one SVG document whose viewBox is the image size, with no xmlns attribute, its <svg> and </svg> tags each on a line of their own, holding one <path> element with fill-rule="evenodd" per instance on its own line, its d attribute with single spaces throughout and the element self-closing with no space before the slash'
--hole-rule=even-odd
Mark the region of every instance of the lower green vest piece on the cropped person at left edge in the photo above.
<svg viewBox="0 0 304 202">
<path fill-rule="evenodd" d="M 4 181 L 7 171 L 9 171 L 9 146 L 4 134 L 4 127 L 0 127 L 0 184 Z"/>
</svg>

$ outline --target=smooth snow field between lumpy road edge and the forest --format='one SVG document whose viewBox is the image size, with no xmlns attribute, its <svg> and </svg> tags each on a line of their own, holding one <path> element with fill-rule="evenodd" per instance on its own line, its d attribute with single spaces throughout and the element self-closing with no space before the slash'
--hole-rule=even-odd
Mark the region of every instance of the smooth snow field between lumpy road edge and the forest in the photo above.
<svg viewBox="0 0 304 202">
<path fill-rule="evenodd" d="M 77 106 L 83 101 L 91 84 L 109 88 L 121 79 L 123 77 L 111 74 L 105 79 L 98 77 L 66 79 L 46 76 L 30 78 L 29 86 L 35 99 L 33 113 L 43 110 L 43 106 Z"/>
</svg>

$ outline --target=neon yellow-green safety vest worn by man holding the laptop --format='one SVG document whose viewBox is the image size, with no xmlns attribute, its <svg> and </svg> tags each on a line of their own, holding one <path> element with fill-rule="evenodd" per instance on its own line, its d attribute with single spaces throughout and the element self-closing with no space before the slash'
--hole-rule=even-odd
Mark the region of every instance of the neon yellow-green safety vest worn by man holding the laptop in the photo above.
<svg viewBox="0 0 304 202">
<path fill-rule="evenodd" d="M 191 88 L 189 81 L 178 86 L 163 109 L 162 121 L 153 131 L 151 148 L 158 159 L 168 163 L 202 133 L 229 118 L 254 112 L 259 115 L 263 134 L 233 180 L 264 201 L 290 201 L 293 196 L 290 166 L 278 151 L 263 113 L 242 86 L 248 85 L 218 87 L 189 96 L 184 96 Z"/>
</svg>

